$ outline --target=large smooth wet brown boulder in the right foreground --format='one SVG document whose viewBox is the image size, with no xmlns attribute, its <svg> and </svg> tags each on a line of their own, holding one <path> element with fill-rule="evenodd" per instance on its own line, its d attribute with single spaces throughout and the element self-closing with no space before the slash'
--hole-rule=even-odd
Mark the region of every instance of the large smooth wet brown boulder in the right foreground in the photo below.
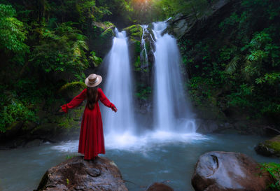
<svg viewBox="0 0 280 191">
<path fill-rule="evenodd" d="M 251 157 L 213 151 L 201 155 L 195 164 L 192 185 L 196 191 L 267 191 L 272 181 Z"/>
</svg>

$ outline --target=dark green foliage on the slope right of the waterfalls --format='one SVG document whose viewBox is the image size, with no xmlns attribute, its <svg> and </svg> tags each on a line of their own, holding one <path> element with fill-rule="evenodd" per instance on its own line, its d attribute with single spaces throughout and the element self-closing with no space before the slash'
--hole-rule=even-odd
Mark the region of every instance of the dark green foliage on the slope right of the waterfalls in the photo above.
<svg viewBox="0 0 280 191">
<path fill-rule="evenodd" d="M 197 105 L 214 98 L 221 110 L 234 106 L 249 113 L 249 118 L 265 115 L 276 122 L 280 115 L 279 7 L 280 1 L 243 0 L 218 29 L 209 29 L 213 33 L 180 39 L 190 97 Z"/>
</svg>

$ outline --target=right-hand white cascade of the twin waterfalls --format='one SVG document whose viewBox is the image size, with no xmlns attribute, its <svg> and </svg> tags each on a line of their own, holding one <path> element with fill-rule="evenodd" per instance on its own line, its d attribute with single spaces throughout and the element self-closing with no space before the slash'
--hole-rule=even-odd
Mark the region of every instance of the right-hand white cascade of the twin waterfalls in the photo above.
<svg viewBox="0 0 280 191">
<path fill-rule="evenodd" d="M 153 23 L 155 36 L 155 127 L 161 131 L 183 130 L 195 132 L 190 106 L 183 91 L 180 72 L 181 55 L 176 39 L 169 34 L 162 35 L 166 22 Z"/>
</svg>

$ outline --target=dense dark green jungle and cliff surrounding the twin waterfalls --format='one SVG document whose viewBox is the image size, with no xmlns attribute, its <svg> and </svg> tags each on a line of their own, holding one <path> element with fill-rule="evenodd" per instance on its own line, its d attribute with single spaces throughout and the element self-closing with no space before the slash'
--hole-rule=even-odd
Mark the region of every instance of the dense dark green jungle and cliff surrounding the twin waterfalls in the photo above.
<svg viewBox="0 0 280 191">
<path fill-rule="evenodd" d="M 87 87 L 90 73 L 106 84 L 116 29 L 127 35 L 136 123 L 153 129 L 153 23 L 163 21 L 160 35 L 178 44 L 188 102 L 180 107 L 190 108 L 195 132 L 225 134 L 221 144 L 280 134 L 278 0 L 0 0 L 0 149 L 78 137 L 85 103 L 66 115 L 59 108 Z M 279 159 L 279 136 L 263 144 L 273 151 L 260 153 Z M 280 190 L 276 159 L 260 161 L 276 180 L 270 188 Z"/>
</svg>

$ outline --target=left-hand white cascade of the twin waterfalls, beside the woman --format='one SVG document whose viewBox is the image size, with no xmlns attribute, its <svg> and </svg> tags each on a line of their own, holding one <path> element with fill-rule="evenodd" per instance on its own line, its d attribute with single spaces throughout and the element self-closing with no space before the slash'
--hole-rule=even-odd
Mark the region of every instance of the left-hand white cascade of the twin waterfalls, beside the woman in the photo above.
<svg viewBox="0 0 280 191">
<path fill-rule="evenodd" d="M 125 134 L 134 131 L 134 111 L 132 108 L 132 72 L 125 31 L 115 29 L 116 37 L 109 52 L 109 65 L 104 79 L 104 93 L 116 105 L 118 112 L 104 109 L 106 134 Z"/>
</svg>

